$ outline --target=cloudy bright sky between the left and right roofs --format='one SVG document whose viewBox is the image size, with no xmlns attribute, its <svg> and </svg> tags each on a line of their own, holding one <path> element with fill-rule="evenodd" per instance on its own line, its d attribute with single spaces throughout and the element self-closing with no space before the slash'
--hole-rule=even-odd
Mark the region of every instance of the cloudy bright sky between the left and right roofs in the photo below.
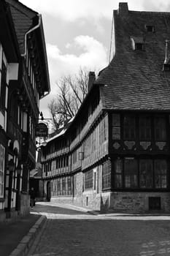
<svg viewBox="0 0 170 256">
<path fill-rule="evenodd" d="M 101 70 L 109 64 L 112 12 L 118 0 L 20 0 L 42 15 L 45 31 L 50 94 L 40 111 L 50 118 L 47 105 L 57 94 L 56 81 L 77 74 L 80 67 Z M 123 2 L 123 0 L 121 1 Z M 129 10 L 170 12 L 169 0 L 129 0 Z"/>
</svg>

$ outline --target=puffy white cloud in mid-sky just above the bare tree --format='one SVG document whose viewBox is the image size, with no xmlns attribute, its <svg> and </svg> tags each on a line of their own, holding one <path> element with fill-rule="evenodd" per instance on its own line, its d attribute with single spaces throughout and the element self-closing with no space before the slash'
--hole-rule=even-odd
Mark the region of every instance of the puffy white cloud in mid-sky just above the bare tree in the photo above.
<svg viewBox="0 0 170 256">
<path fill-rule="evenodd" d="M 69 48 L 81 50 L 80 55 L 63 54 L 57 45 L 47 43 L 47 57 L 50 69 L 50 82 L 52 93 L 55 90 L 55 82 L 62 75 L 74 75 L 80 67 L 88 69 L 101 69 L 107 66 L 107 49 L 101 42 L 93 37 L 80 35 L 74 38 L 72 43 L 68 43 Z M 68 48 L 68 45 L 66 47 Z"/>
</svg>

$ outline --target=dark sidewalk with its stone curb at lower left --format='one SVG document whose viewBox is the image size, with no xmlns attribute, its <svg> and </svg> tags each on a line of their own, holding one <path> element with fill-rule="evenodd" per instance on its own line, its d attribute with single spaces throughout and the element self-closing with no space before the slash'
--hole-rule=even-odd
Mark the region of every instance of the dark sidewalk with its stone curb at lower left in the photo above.
<svg viewBox="0 0 170 256">
<path fill-rule="evenodd" d="M 23 256 L 45 222 L 45 217 L 29 214 L 9 222 L 0 222 L 0 255 Z"/>
</svg>

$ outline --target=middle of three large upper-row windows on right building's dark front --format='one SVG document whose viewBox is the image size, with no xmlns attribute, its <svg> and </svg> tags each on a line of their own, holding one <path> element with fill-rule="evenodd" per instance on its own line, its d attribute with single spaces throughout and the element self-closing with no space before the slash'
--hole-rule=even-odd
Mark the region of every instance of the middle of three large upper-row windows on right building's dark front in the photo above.
<svg viewBox="0 0 170 256">
<path fill-rule="evenodd" d="M 151 140 L 151 119 L 150 117 L 139 118 L 139 139 Z"/>
</svg>

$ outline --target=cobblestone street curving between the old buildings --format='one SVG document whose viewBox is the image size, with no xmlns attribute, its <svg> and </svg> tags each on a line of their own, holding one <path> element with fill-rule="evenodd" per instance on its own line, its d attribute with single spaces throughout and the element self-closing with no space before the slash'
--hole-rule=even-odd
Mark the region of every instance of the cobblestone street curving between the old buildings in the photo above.
<svg viewBox="0 0 170 256">
<path fill-rule="evenodd" d="M 170 217 L 88 214 L 72 206 L 36 204 L 47 217 L 28 255 L 170 255 Z"/>
</svg>

